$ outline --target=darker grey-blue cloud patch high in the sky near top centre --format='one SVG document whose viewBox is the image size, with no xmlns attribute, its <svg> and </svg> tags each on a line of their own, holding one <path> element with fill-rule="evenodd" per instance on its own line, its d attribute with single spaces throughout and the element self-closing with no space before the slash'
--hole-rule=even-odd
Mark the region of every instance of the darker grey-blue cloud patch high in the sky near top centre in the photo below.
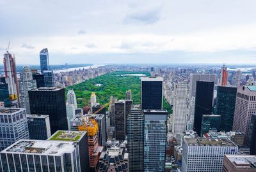
<svg viewBox="0 0 256 172">
<path fill-rule="evenodd" d="M 160 20 L 162 8 L 138 9 L 124 17 L 124 24 L 155 24 Z"/>
</svg>

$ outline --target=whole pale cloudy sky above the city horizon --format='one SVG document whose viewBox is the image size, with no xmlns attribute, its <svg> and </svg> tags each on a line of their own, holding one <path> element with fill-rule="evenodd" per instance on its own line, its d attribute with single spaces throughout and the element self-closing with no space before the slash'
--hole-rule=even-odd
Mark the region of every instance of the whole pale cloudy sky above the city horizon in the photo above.
<svg viewBox="0 0 256 172">
<path fill-rule="evenodd" d="M 17 64 L 256 64 L 255 0 L 0 0 Z M 3 55 L 2 55 L 3 56 Z"/>
</svg>

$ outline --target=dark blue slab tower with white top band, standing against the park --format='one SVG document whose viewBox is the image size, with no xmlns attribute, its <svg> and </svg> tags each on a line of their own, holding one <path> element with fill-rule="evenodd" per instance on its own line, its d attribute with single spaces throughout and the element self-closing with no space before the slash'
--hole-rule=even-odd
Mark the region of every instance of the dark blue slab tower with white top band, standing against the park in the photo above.
<svg viewBox="0 0 256 172">
<path fill-rule="evenodd" d="M 163 108 L 163 78 L 141 78 L 141 109 L 161 110 Z"/>
</svg>

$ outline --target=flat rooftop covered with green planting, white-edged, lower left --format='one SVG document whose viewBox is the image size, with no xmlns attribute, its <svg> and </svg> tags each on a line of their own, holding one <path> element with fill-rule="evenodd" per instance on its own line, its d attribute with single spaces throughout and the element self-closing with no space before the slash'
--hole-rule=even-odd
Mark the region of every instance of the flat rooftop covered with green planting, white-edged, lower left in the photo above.
<svg viewBox="0 0 256 172">
<path fill-rule="evenodd" d="M 58 141 L 79 141 L 86 131 L 56 131 L 47 140 L 58 140 Z"/>
</svg>

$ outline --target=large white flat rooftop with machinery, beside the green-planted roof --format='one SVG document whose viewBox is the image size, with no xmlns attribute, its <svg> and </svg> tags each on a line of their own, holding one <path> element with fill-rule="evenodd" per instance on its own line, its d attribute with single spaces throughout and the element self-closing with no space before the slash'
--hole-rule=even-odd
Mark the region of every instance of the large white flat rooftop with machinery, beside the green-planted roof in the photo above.
<svg viewBox="0 0 256 172">
<path fill-rule="evenodd" d="M 1 153 L 63 155 L 73 152 L 75 147 L 74 143 L 67 141 L 19 140 Z"/>
</svg>

